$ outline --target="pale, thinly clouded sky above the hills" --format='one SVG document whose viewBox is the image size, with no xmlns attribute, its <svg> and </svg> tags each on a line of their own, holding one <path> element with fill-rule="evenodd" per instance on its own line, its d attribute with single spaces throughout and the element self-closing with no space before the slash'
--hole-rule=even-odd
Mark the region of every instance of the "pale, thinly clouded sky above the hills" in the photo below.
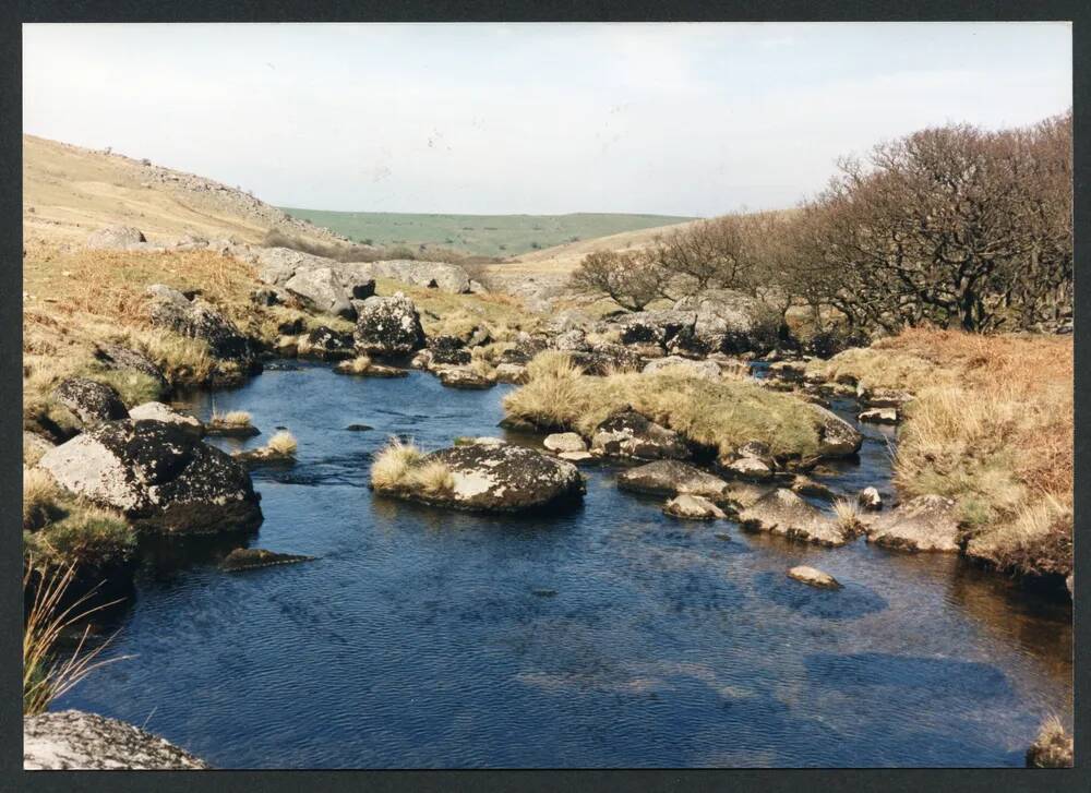
<svg viewBox="0 0 1091 793">
<path fill-rule="evenodd" d="M 350 212 L 786 207 L 1071 82 L 1067 23 L 23 26 L 24 132 Z"/>
</svg>

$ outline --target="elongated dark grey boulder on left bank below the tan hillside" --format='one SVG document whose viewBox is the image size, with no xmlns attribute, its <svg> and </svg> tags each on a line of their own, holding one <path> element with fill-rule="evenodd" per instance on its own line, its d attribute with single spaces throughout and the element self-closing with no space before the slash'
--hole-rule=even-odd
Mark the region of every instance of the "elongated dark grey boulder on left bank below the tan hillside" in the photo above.
<svg viewBox="0 0 1091 793">
<path fill-rule="evenodd" d="M 261 371 L 256 346 L 212 303 L 202 298 L 189 300 L 163 284 L 149 286 L 147 293 L 153 325 L 206 341 L 215 358 L 235 362 L 244 373 Z"/>
</svg>

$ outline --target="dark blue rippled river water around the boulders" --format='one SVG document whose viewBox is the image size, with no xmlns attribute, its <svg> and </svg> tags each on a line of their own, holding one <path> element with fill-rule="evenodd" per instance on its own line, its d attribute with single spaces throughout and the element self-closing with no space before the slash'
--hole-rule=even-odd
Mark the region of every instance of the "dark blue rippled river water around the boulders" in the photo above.
<svg viewBox="0 0 1091 793">
<path fill-rule="evenodd" d="M 1019 766 L 1070 719 L 1070 608 L 949 556 L 674 521 L 610 469 L 549 519 L 367 489 L 391 433 L 500 434 L 507 388 L 303 367 L 216 393 L 262 429 L 244 445 L 289 428 L 299 465 L 255 472 L 255 537 L 146 543 L 109 650 L 134 657 L 55 707 L 235 768 Z M 832 485 L 889 492 L 889 433 L 867 434 Z M 319 560 L 219 572 L 243 542 Z M 802 562 L 844 588 L 788 579 Z"/>
</svg>

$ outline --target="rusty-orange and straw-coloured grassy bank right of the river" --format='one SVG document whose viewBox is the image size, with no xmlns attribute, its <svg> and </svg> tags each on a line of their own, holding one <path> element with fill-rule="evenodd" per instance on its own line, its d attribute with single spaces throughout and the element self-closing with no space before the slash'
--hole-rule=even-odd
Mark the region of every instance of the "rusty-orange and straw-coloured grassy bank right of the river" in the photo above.
<svg viewBox="0 0 1091 793">
<path fill-rule="evenodd" d="M 1071 337 L 907 331 L 808 373 L 913 394 L 899 491 L 955 498 L 971 555 L 1015 573 L 1071 573 Z"/>
</svg>

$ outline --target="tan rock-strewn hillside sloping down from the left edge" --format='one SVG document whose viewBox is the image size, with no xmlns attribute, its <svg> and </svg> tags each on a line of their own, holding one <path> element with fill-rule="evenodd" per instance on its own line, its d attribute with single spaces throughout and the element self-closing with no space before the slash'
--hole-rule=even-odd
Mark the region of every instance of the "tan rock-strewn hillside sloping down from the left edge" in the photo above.
<svg viewBox="0 0 1091 793">
<path fill-rule="evenodd" d="M 152 241 L 192 233 L 261 242 L 271 228 L 339 241 L 253 195 L 147 160 L 23 135 L 23 237 L 82 241 L 104 226 L 135 226 Z"/>
</svg>

